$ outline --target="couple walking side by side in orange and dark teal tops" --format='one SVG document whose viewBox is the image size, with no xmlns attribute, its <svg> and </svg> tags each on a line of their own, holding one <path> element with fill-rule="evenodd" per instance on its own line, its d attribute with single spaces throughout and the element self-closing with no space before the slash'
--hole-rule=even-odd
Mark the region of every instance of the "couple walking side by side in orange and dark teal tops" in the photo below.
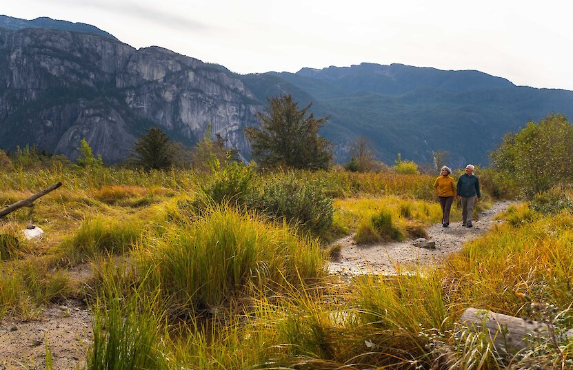
<svg viewBox="0 0 573 370">
<path fill-rule="evenodd" d="M 479 180 L 474 175 L 474 165 L 465 166 L 465 173 L 458 179 L 455 185 L 454 178 L 450 176 L 452 170 L 448 166 L 443 166 L 441 174 L 434 181 L 434 190 L 438 194 L 440 205 L 442 207 L 442 226 L 450 226 L 450 209 L 454 203 L 454 196 L 461 200 L 461 216 L 463 227 L 473 227 L 472 214 L 474 204 L 481 198 L 479 192 Z"/>
</svg>

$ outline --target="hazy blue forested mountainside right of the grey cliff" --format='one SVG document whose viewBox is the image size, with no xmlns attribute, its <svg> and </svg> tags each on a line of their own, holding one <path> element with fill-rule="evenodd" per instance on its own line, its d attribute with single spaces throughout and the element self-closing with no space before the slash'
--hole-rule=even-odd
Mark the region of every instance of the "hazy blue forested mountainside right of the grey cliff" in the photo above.
<svg viewBox="0 0 573 370">
<path fill-rule="evenodd" d="M 506 132 L 551 112 L 573 117 L 573 92 L 520 87 L 478 71 L 362 63 L 239 78 L 259 99 L 289 92 L 330 115 L 322 133 L 338 144 L 339 161 L 365 136 L 390 164 L 397 153 L 431 163 L 433 152 L 448 151 L 451 165 L 485 165 Z"/>
</svg>

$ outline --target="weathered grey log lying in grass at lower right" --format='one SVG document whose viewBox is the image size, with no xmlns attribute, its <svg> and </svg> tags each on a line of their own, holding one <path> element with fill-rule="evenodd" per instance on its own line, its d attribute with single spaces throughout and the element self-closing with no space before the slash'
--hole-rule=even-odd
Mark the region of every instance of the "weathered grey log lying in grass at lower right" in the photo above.
<svg viewBox="0 0 573 370">
<path fill-rule="evenodd" d="M 507 353 L 515 353 L 527 347 L 526 338 L 547 338 L 547 325 L 543 322 L 525 320 L 515 316 L 497 314 L 487 309 L 468 308 L 463 311 L 459 322 L 474 332 L 489 333 L 496 350 L 503 347 Z M 565 333 L 573 338 L 573 329 Z"/>
</svg>

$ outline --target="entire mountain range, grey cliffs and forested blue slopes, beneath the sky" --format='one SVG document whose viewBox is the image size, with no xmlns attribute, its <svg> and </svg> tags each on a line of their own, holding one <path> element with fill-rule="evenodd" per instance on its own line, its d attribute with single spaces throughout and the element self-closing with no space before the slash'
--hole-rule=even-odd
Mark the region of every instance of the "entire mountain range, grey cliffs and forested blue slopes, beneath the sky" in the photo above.
<svg viewBox="0 0 573 370">
<path fill-rule="evenodd" d="M 0 147 L 34 143 L 77 156 L 125 159 L 139 135 L 161 127 L 185 145 L 210 127 L 249 158 L 243 128 L 257 125 L 266 99 L 292 94 L 329 116 L 321 134 L 347 161 L 365 136 L 376 156 L 487 164 L 503 134 L 551 112 L 573 116 L 573 92 L 516 86 L 479 71 L 361 63 L 296 73 L 236 74 L 159 47 L 136 50 L 83 23 L 0 16 Z"/>
</svg>

